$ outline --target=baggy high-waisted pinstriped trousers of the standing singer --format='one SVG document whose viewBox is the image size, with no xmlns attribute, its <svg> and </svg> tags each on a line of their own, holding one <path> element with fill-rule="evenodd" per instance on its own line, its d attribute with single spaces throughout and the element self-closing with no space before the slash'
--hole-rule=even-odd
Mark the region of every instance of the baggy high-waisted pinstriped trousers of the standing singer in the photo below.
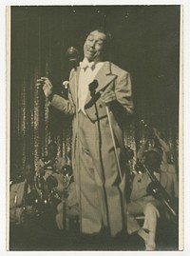
<svg viewBox="0 0 190 256">
<path fill-rule="evenodd" d="M 93 123 L 80 111 L 77 140 L 75 183 L 81 230 L 95 234 L 105 228 L 114 236 L 124 227 L 125 175 L 121 180 L 107 118 Z M 117 153 L 122 160 L 118 144 Z"/>
</svg>

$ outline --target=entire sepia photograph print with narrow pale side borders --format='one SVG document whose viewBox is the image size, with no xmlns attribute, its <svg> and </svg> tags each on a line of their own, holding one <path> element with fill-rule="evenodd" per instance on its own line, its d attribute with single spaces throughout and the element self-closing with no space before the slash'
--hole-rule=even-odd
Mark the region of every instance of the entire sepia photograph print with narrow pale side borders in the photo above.
<svg viewBox="0 0 190 256">
<path fill-rule="evenodd" d="M 10 251 L 180 251 L 180 5 L 7 7 Z"/>
</svg>

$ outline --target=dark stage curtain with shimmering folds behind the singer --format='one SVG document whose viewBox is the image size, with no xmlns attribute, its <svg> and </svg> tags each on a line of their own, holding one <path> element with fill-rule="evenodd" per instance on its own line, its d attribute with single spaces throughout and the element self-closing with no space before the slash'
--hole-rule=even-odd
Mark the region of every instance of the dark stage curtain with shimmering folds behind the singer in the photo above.
<svg viewBox="0 0 190 256">
<path fill-rule="evenodd" d="M 38 77 L 47 76 L 66 97 L 66 49 L 83 59 L 87 30 L 106 26 L 112 33 L 110 59 L 130 72 L 135 114 L 125 129 L 125 146 L 135 152 L 144 139 L 141 120 L 159 128 L 178 163 L 180 6 L 11 7 L 10 170 L 21 171 L 47 153 L 55 141 L 66 157 L 71 119 L 49 108 Z"/>
</svg>

